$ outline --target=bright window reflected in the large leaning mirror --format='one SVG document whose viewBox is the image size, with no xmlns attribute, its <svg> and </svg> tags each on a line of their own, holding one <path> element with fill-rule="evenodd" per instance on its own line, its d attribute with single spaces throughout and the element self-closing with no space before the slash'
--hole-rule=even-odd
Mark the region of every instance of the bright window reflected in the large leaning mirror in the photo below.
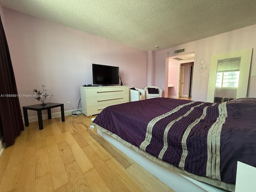
<svg viewBox="0 0 256 192">
<path fill-rule="evenodd" d="M 238 88 L 239 71 L 217 72 L 216 84 L 218 88 Z"/>
</svg>

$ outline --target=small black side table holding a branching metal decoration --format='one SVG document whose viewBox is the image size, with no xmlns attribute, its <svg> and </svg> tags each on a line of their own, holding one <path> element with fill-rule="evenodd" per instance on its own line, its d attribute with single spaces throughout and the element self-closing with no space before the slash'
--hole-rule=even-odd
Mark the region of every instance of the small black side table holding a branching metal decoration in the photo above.
<svg viewBox="0 0 256 192">
<path fill-rule="evenodd" d="M 48 110 L 48 119 L 52 118 L 51 114 L 51 108 L 55 107 L 60 107 L 61 110 L 61 120 L 65 121 L 65 116 L 64 116 L 64 104 L 62 103 L 46 103 L 46 105 L 30 105 L 30 106 L 24 106 L 23 108 L 23 114 L 24 114 L 24 122 L 25 126 L 29 126 L 28 124 L 28 110 L 34 110 L 37 111 L 37 116 L 38 116 L 38 124 L 39 124 L 39 129 L 43 129 L 43 119 L 42 119 L 42 110 Z"/>
</svg>

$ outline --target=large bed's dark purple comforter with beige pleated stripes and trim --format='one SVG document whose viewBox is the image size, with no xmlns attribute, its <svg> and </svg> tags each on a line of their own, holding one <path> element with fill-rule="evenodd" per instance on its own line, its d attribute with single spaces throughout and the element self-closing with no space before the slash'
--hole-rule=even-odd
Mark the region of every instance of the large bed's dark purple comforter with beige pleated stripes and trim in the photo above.
<svg viewBox="0 0 256 192">
<path fill-rule="evenodd" d="M 256 166 L 256 98 L 152 98 L 105 108 L 92 122 L 147 158 L 234 191 L 237 161 Z"/>
</svg>

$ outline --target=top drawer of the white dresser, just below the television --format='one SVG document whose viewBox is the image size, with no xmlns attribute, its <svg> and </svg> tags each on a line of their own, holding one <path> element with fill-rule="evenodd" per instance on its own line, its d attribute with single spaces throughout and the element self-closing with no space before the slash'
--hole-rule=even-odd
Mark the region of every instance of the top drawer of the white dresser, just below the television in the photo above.
<svg viewBox="0 0 256 192">
<path fill-rule="evenodd" d="M 117 94 L 129 94 L 128 86 L 106 86 L 106 87 L 93 87 L 86 89 L 86 98 L 99 97 Z"/>
</svg>

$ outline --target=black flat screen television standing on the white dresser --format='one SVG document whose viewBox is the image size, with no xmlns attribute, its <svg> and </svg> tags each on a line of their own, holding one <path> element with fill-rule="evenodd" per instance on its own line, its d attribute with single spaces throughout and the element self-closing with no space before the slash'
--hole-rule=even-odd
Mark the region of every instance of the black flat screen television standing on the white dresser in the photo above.
<svg viewBox="0 0 256 192">
<path fill-rule="evenodd" d="M 94 85 L 119 84 L 119 67 L 92 64 L 92 82 Z"/>
</svg>

